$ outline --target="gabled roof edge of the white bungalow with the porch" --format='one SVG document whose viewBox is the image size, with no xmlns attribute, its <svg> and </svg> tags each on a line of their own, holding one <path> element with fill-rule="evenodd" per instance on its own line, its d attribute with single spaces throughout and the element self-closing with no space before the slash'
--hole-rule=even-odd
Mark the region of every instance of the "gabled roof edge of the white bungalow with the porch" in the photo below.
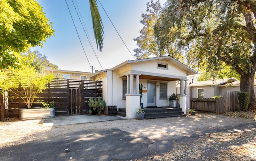
<svg viewBox="0 0 256 161">
<path fill-rule="evenodd" d="M 138 59 L 138 60 L 130 60 L 130 61 L 124 61 L 123 63 L 117 65 L 116 67 L 112 68 L 111 70 L 118 69 L 120 67 L 126 66 L 127 64 L 132 64 L 132 63 L 139 63 L 143 61 L 154 61 L 154 60 L 165 60 L 167 62 L 172 63 L 172 65 L 175 65 L 176 67 L 186 71 L 187 75 L 196 75 L 198 74 L 196 71 L 191 69 L 190 67 L 184 65 L 180 61 L 177 61 L 171 56 L 164 56 L 164 57 L 152 57 L 152 58 L 146 58 L 146 59 Z"/>
</svg>

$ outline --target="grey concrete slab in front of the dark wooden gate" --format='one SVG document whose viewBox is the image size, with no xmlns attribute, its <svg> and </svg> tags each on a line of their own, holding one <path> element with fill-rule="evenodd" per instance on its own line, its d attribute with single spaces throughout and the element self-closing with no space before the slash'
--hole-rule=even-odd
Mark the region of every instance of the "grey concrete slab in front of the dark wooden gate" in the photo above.
<svg viewBox="0 0 256 161">
<path fill-rule="evenodd" d="M 42 127 L 60 126 L 70 124 L 83 124 L 89 122 L 101 122 L 112 120 L 130 119 L 122 116 L 105 116 L 105 115 L 72 115 L 72 116 L 58 116 L 55 118 L 47 118 L 44 120 Z"/>
</svg>

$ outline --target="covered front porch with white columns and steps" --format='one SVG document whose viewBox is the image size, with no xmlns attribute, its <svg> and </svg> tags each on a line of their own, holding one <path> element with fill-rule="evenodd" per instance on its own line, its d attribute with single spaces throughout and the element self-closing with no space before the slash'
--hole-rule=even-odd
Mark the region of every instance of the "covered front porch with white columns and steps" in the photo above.
<svg viewBox="0 0 256 161">
<path fill-rule="evenodd" d="M 138 74 L 142 73 L 142 74 Z M 144 93 L 143 96 L 146 95 L 146 98 L 144 98 L 144 101 L 146 99 L 146 104 L 144 102 L 144 111 L 146 112 L 145 118 L 162 118 L 162 117 L 172 117 L 172 116 L 186 116 L 186 113 L 188 111 L 189 107 L 189 95 L 187 93 L 187 79 L 186 77 L 179 77 L 179 76 L 170 76 L 170 75 L 154 75 L 153 73 L 147 73 L 143 74 L 143 72 L 138 73 L 134 72 L 127 74 L 126 73 L 126 79 L 127 79 L 127 92 L 125 94 L 125 103 L 126 106 L 122 110 L 125 110 L 126 117 L 128 118 L 136 118 L 136 109 L 140 106 L 140 94 L 139 94 L 139 84 L 142 82 L 147 82 L 146 86 L 144 86 Z M 173 91 L 176 91 L 176 85 L 172 86 L 172 88 L 167 89 L 165 93 L 161 93 L 161 82 L 168 84 L 169 82 L 175 82 L 179 81 L 181 84 L 181 88 L 183 90 L 180 90 L 179 95 L 179 108 L 170 108 L 168 106 L 168 96 L 172 94 Z M 148 82 L 154 82 L 154 96 L 156 103 L 152 106 L 149 106 L 149 102 L 152 102 L 150 100 L 150 97 L 148 97 L 150 92 L 150 86 L 148 85 Z M 145 83 L 144 83 L 145 84 Z M 156 92 L 159 92 L 160 94 L 163 94 L 165 98 L 161 98 L 160 95 L 157 96 Z M 160 103 L 161 101 L 161 103 Z M 164 102 L 164 103 L 163 103 Z M 150 104 L 151 105 L 151 104 Z"/>
</svg>

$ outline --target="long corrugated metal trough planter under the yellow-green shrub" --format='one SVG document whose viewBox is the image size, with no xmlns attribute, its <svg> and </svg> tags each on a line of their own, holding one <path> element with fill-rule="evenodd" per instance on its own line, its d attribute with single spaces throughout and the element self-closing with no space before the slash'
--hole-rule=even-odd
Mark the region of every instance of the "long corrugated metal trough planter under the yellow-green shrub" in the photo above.
<svg viewBox="0 0 256 161">
<path fill-rule="evenodd" d="M 20 108 L 20 120 L 32 120 L 41 118 L 54 118 L 55 108 Z"/>
</svg>

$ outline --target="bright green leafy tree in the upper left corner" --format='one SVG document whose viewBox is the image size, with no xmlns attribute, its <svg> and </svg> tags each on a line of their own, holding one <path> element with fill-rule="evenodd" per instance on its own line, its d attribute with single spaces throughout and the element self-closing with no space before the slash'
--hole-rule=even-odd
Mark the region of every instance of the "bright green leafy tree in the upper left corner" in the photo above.
<svg viewBox="0 0 256 161">
<path fill-rule="evenodd" d="M 52 23 L 36 0 L 1 0 L 0 24 L 0 69 L 26 64 L 20 53 L 42 46 L 54 33 Z"/>
</svg>

